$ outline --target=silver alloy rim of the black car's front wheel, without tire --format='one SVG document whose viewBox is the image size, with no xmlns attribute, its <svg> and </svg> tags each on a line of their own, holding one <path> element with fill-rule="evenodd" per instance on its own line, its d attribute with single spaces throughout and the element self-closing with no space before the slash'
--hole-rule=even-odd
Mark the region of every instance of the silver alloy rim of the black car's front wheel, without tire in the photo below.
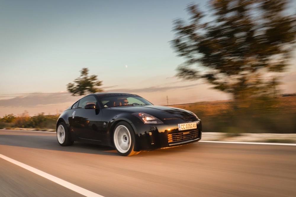
<svg viewBox="0 0 296 197">
<path fill-rule="evenodd" d="M 120 153 L 126 153 L 131 148 L 131 133 L 124 125 L 119 125 L 114 131 L 114 145 Z"/>
</svg>

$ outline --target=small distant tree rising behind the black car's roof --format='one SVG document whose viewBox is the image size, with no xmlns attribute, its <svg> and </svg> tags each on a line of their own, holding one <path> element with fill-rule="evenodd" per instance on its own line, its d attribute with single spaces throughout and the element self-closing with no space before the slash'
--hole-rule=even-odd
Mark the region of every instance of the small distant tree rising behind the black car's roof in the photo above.
<svg viewBox="0 0 296 197">
<path fill-rule="evenodd" d="M 97 79 L 96 75 L 88 76 L 89 69 L 83 68 L 80 71 L 80 77 L 76 78 L 73 82 L 67 84 L 67 90 L 73 96 L 82 96 L 86 93 L 102 92 L 103 89 L 98 88 L 102 85 L 102 81 Z"/>
</svg>

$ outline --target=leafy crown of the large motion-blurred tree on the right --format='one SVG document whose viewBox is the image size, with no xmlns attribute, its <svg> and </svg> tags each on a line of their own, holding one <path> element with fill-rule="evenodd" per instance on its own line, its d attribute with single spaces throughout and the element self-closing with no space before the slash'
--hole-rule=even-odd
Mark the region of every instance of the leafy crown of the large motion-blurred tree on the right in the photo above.
<svg viewBox="0 0 296 197">
<path fill-rule="evenodd" d="M 190 4 L 189 19 L 174 21 L 172 47 L 185 58 L 177 76 L 205 79 L 236 100 L 273 93 L 277 74 L 295 49 L 296 17 L 284 14 L 288 0 L 211 0 L 209 5 L 212 16 Z"/>
</svg>

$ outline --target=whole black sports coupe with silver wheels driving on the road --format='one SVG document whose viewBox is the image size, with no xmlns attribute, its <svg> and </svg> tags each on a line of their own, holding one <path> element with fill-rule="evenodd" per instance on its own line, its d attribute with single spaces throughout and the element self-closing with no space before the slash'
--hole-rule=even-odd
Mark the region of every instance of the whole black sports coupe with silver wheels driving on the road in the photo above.
<svg viewBox="0 0 296 197">
<path fill-rule="evenodd" d="M 61 146 L 74 141 L 94 143 L 112 146 L 122 156 L 190 144 L 201 136 L 202 124 L 194 113 L 155 106 L 138 95 L 125 93 L 87 95 L 57 120 Z"/>
</svg>

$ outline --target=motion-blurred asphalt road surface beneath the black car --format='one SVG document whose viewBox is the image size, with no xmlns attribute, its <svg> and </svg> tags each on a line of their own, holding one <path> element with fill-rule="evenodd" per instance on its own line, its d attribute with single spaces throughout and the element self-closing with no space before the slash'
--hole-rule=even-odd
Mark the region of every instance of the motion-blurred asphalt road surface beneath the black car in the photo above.
<svg viewBox="0 0 296 197">
<path fill-rule="evenodd" d="M 296 196 L 296 146 L 200 141 L 121 157 L 104 146 L 62 147 L 56 133 L 0 130 L 0 156 L 1 197 L 86 195 L 71 184 L 104 197 Z"/>
</svg>

